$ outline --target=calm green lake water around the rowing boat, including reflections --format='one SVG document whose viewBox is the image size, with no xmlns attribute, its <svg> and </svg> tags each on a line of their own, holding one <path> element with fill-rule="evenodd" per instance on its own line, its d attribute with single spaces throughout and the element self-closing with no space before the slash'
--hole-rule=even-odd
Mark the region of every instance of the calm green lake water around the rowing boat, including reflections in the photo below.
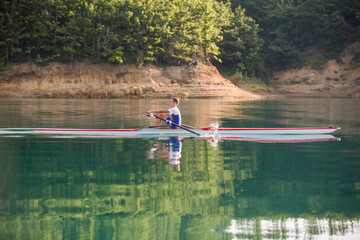
<svg viewBox="0 0 360 240">
<path fill-rule="evenodd" d="M 0 99 L 0 128 L 142 128 L 168 107 Z M 359 100 L 179 107 L 196 127 L 340 126 L 341 141 L 0 135 L 0 239 L 360 239 Z"/>
</svg>

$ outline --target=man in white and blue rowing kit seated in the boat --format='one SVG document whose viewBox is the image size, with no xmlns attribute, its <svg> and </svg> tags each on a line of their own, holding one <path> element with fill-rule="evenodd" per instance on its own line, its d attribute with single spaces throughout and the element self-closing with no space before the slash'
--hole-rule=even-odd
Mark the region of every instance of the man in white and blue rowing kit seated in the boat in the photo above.
<svg viewBox="0 0 360 240">
<path fill-rule="evenodd" d="M 171 122 L 181 126 L 181 113 L 179 108 L 177 107 L 179 105 L 179 102 L 180 100 L 178 98 L 173 97 L 170 99 L 171 108 L 169 108 L 168 110 L 149 111 L 147 112 L 147 114 L 156 114 L 159 117 L 166 119 L 166 124 L 169 125 L 171 128 L 178 128 L 177 126 L 171 124 Z M 170 117 L 166 114 L 170 114 Z M 156 119 L 156 125 L 160 125 L 161 121 L 161 119 Z"/>
</svg>

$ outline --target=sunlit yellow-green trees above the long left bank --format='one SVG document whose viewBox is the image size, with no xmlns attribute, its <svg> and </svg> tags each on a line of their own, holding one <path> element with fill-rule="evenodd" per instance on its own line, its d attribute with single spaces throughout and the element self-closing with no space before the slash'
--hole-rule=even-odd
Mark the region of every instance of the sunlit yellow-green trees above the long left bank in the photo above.
<svg viewBox="0 0 360 240">
<path fill-rule="evenodd" d="M 194 50 L 208 60 L 231 16 L 230 4 L 215 0 L 4 0 L 0 10 L 1 62 L 142 65 L 188 61 Z"/>
</svg>

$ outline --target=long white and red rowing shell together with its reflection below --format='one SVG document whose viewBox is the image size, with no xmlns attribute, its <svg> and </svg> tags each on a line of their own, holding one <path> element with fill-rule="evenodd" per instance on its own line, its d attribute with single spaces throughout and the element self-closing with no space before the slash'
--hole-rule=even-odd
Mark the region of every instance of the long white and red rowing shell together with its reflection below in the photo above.
<svg viewBox="0 0 360 240">
<path fill-rule="evenodd" d="M 157 138 L 157 137 L 199 137 L 214 142 L 246 141 L 263 143 L 298 143 L 316 141 L 338 141 L 328 132 L 338 128 L 262 128 L 262 129 L 225 129 L 203 128 L 192 129 L 200 136 L 182 129 L 143 128 L 143 129 L 0 129 L 3 136 L 36 135 L 56 138 Z"/>
</svg>

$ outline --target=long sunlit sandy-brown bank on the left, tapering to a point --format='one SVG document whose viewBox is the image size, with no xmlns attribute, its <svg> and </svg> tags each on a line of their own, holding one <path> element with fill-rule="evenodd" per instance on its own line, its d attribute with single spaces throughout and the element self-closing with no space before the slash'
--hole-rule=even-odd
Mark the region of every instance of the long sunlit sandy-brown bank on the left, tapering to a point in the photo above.
<svg viewBox="0 0 360 240">
<path fill-rule="evenodd" d="M 15 98 L 236 98 L 260 99 L 199 64 L 159 68 L 109 63 L 12 64 L 0 75 L 0 97 Z"/>
</svg>

